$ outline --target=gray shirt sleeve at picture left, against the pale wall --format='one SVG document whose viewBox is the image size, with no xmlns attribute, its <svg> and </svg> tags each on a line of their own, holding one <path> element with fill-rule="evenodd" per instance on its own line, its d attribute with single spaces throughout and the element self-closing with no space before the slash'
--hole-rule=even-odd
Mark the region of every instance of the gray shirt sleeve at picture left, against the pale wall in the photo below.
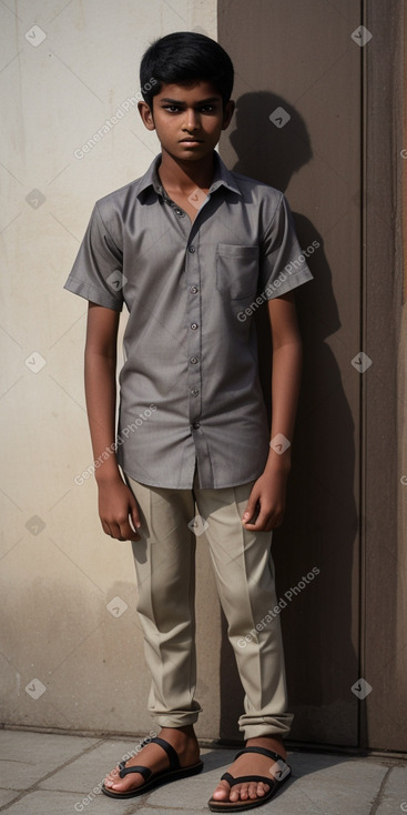
<svg viewBox="0 0 407 815">
<path fill-rule="evenodd" d="M 109 233 L 96 203 L 63 288 L 98 305 L 121 311 L 124 283 L 123 254 Z"/>
</svg>

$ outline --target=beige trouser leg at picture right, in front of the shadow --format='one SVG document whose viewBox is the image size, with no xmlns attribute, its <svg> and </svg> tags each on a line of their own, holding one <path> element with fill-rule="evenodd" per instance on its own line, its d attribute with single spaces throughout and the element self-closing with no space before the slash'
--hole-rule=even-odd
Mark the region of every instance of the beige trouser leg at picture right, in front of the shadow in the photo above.
<svg viewBox="0 0 407 815">
<path fill-rule="evenodd" d="M 271 615 L 277 606 L 273 533 L 250 532 L 242 525 L 253 484 L 195 491 L 199 513 L 208 523 L 217 591 L 245 691 L 245 713 L 238 721 L 245 738 L 286 735 L 293 721 L 287 712 L 279 616 Z"/>
</svg>

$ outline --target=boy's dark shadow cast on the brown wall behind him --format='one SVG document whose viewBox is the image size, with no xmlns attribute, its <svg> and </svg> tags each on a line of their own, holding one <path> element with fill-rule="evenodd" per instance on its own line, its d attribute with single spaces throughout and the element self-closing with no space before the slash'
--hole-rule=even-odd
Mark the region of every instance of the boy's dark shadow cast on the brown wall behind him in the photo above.
<svg viewBox="0 0 407 815">
<path fill-rule="evenodd" d="M 265 111 L 279 107 L 288 112 L 289 127 L 271 128 Z M 285 192 L 292 174 L 313 157 L 303 118 L 285 99 L 268 92 L 240 97 L 235 115 L 235 130 L 224 137 L 238 157 L 233 170 Z M 230 167 L 227 141 L 221 152 Z M 286 515 L 273 535 L 277 597 L 287 601 L 281 621 L 289 711 L 295 714 L 291 738 L 356 746 L 358 708 L 350 692 L 359 676 L 352 641 L 352 580 L 358 546 L 355 425 L 340 370 L 326 343 L 340 323 L 323 240 L 307 218 L 293 215 L 301 246 L 306 250 L 313 241 L 319 245 L 307 259 L 314 280 L 296 293 L 304 349 L 302 392 Z M 357 280 L 355 296 L 358 285 Z M 255 320 L 260 375 L 269 415 L 272 354 L 265 306 L 257 310 Z M 304 583 L 303 575 L 314 567 L 319 573 Z M 292 588 L 296 591 L 287 598 Z M 236 720 L 243 693 L 224 617 L 222 643 L 220 736 L 241 739 Z"/>
</svg>

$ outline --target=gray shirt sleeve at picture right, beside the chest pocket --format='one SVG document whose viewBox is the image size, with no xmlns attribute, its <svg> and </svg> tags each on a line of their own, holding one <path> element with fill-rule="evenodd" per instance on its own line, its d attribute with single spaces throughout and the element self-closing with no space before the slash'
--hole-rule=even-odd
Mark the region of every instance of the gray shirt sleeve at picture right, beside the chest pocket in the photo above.
<svg viewBox="0 0 407 815">
<path fill-rule="evenodd" d="M 282 193 L 261 244 L 257 294 L 272 300 L 308 280 L 313 280 L 313 274 L 301 250 L 288 202 Z"/>
</svg>

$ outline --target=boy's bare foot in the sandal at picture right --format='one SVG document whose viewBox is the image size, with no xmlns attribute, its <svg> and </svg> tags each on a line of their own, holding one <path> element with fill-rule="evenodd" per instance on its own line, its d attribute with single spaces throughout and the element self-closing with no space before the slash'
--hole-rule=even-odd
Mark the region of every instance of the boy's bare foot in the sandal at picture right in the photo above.
<svg viewBox="0 0 407 815">
<path fill-rule="evenodd" d="M 272 749 L 282 758 L 286 759 L 287 752 L 283 744 L 281 736 L 258 736 L 257 738 L 248 738 L 246 747 L 265 747 Z M 271 759 L 260 753 L 245 753 L 236 758 L 233 764 L 228 767 L 228 773 L 234 777 L 238 778 L 242 775 L 263 775 L 266 778 L 271 777 Z M 234 784 L 231 787 L 226 779 L 221 781 L 215 792 L 213 793 L 212 799 L 218 801 L 220 803 L 230 801 L 231 803 L 254 801 L 255 798 L 263 798 L 268 793 L 271 785 L 264 784 L 261 781 L 243 782 L 242 784 Z"/>
</svg>

